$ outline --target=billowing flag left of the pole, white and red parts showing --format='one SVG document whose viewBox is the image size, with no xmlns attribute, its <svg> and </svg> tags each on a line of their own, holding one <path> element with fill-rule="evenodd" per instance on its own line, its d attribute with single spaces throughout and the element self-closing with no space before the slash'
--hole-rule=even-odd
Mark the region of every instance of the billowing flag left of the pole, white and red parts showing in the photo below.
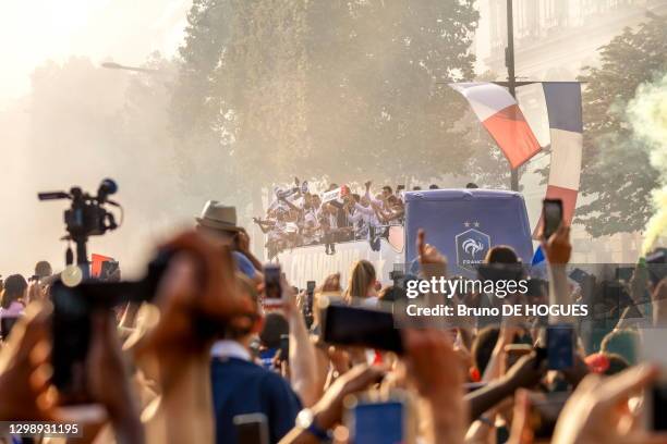
<svg viewBox="0 0 667 444">
<path fill-rule="evenodd" d="M 529 126 L 517 100 L 504 87 L 493 83 L 450 84 L 468 101 L 512 169 L 522 165 L 539 150 L 539 143 Z"/>
</svg>

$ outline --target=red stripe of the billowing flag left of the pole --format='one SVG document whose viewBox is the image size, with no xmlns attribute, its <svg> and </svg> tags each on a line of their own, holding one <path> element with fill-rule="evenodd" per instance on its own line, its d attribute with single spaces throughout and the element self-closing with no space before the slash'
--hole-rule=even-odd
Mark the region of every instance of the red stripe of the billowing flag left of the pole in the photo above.
<svg viewBox="0 0 667 444">
<path fill-rule="evenodd" d="M 512 169 L 520 166 L 542 149 L 518 104 L 498 111 L 482 123 Z"/>
</svg>

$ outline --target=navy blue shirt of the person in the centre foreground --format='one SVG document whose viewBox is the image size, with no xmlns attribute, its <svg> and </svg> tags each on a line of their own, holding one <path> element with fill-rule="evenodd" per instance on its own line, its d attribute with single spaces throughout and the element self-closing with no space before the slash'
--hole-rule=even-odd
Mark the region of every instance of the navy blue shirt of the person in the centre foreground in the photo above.
<svg viewBox="0 0 667 444">
<path fill-rule="evenodd" d="M 237 444 L 237 415 L 266 415 L 269 439 L 277 443 L 293 427 L 301 400 L 278 373 L 235 357 L 216 357 L 210 367 L 216 443 Z"/>
</svg>

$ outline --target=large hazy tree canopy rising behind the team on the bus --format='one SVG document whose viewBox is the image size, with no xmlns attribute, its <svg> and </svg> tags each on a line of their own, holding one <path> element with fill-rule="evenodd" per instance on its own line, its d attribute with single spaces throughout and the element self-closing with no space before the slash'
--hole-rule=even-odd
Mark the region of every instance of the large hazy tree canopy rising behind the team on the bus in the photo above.
<svg viewBox="0 0 667 444">
<path fill-rule="evenodd" d="M 195 0 L 172 120 L 183 157 L 207 160 L 184 176 L 247 195 L 460 172 L 468 104 L 440 84 L 473 78 L 473 2 Z"/>
</svg>

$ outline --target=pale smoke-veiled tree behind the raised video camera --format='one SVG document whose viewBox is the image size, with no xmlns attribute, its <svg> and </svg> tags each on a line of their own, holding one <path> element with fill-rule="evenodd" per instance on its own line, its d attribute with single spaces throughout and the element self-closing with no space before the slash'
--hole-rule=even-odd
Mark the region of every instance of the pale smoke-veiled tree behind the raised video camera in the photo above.
<svg viewBox="0 0 667 444">
<path fill-rule="evenodd" d="M 8 230 L 13 238 L 7 245 L 21 242 L 10 248 L 17 251 L 13 259 L 25 255 L 24 263 L 34 263 L 37 250 L 54 264 L 62 263 L 64 244 L 58 239 L 64 233 L 61 210 L 66 203 L 38 202 L 39 190 L 80 185 L 95 193 L 104 177 L 114 178 L 119 192 L 113 198 L 125 210 L 123 224 L 111 234 L 92 237 L 89 251 L 122 255 L 124 270 L 143 268 L 146 239 L 173 218 L 199 208 L 201 201 L 190 205 L 183 198 L 173 180 L 178 174 L 167 104 L 175 66 L 153 54 L 144 67 L 157 71 L 106 70 L 86 58 L 35 70 L 25 100 L 29 106 L 20 110 L 28 120 L 25 145 L 13 148 L 23 153 L 27 178 L 20 181 L 31 189 L 11 206 L 16 214 L 27 214 L 14 218 L 14 231 Z"/>
</svg>

